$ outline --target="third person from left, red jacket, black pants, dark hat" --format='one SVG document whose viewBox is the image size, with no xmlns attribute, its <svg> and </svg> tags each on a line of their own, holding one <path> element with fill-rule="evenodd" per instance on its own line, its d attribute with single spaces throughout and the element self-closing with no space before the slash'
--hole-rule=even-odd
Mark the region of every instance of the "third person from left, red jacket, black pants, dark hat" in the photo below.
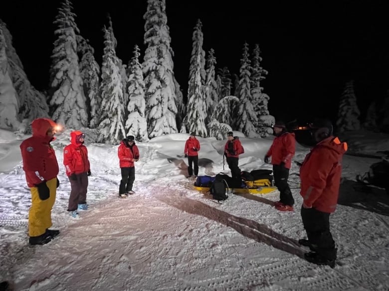
<svg viewBox="0 0 389 291">
<path fill-rule="evenodd" d="M 120 172 L 122 180 L 119 186 L 119 197 L 127 197 L 128 194 L 134 194 L 132 186 L 135 181 L 135 165 L 134 162 L 139 161 L 139 149 L 135 144 L 135 137 L 127 136 L 120 142 L 118 148 L 118 157 L 120 164 Z"/>
</svg>

